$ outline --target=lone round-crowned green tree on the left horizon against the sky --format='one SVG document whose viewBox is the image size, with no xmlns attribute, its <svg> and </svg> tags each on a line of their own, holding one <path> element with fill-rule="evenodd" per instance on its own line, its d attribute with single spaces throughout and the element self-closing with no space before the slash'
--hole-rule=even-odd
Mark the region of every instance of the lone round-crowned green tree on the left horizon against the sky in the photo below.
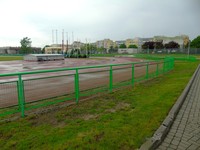
<svg viewBox="0 0 200 150">
<path fill-rule="evenodd" d="M 32 52 L 31 49 L 31 39 L 28 37 L 23 38 L 21 41 L 21 48 L 20 48 L 20 53 L 21 54 L 29 54 Z"/>
</svg>

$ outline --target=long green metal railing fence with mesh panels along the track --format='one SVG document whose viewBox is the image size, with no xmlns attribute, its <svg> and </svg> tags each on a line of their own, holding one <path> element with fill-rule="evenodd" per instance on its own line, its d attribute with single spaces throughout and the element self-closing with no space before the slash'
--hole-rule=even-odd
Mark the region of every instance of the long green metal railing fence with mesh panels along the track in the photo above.
<svg viewBox="0 0 200 150">
<path fill-rule="evenodd" d="M 0 74 L 0 116 L 63 103 L 122 86 L 134 86 L 172 70 L 174 58 Z"/>
</svg>

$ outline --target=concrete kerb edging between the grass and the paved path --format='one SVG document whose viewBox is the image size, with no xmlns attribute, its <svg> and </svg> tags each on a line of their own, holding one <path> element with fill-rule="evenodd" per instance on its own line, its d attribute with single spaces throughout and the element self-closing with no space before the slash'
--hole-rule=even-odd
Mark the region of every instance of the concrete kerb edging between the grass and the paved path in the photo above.
<svg viewBox="0 0 200 150">
<path fill-rule="evenodd" d="M 168 113 L 165 120 L 162 122 L 160 127 L 156 130 L 154 135 L 149 138 L 141 147 L 139 150 L 154 150 L 156 149 L 162 141 L 165 139 L 168 131 L 170 130 L 183 102 L 185 101 L 187 94 L 194 82 L 195 77 L 197 76 L 197 73 L 200 69 L 200 65 L 197 67 L 196 71 L 194 72 L 193 76 L 191 77 L 190 81 L 188 82 L 187 86 L 183 90 L 182 94 L 177 99 L 176 103 Z"/>
</svg>

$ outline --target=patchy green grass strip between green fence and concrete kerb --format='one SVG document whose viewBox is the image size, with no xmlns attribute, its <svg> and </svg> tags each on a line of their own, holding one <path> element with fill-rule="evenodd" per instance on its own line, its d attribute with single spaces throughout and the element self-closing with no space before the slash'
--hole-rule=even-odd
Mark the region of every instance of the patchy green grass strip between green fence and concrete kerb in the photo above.
<svg viewBox="0 0 200 150">
<path fill-rule="evenodd" d="M 1 149 L 137 149 L 151 137 L 199 62 L 78 105 L 0 123 Z"/>
</svg>

